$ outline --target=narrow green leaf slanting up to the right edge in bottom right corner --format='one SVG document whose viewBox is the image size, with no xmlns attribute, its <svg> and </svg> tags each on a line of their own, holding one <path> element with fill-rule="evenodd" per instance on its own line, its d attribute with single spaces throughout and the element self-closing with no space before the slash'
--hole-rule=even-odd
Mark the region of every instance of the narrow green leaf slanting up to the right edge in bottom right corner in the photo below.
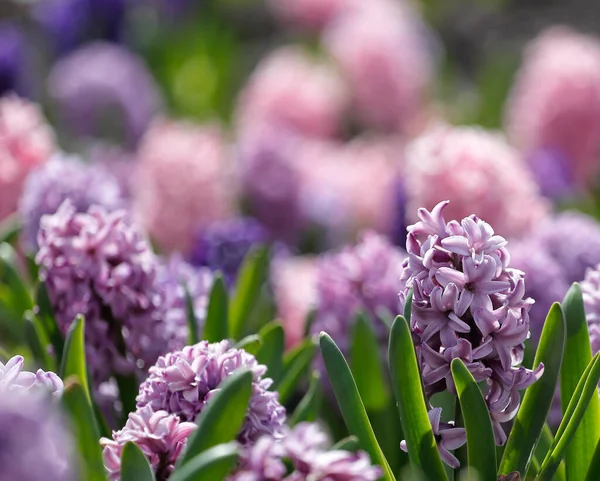
<svg viewBox="0 0 600 481">
<path fill-rule="evenodd" d="M 556 431 L 554 442 L 550 452 L 546 455 L 540 471 L 536 477 L 539 480 L 552 479 L 558 469 L 567 447 L 573 440 L 573 436 L 579 427 L 579 423 L 588 408 L 592 397 L 598 397 L 598 381 L 600 381 L 600 353 L 596 354 L 590 367 L 586 369 L 585 377 L 579 381 L 571 401 L 565 411 L 563 420 Z M 587 469 L 586 469 L 587 471 Z M 567 466 L 567 476 L 569 467 Z M 585 472 L 582 473 L 585 476 Z M 579 478 L 582 479 L 582 478 Z"/>
</svg>

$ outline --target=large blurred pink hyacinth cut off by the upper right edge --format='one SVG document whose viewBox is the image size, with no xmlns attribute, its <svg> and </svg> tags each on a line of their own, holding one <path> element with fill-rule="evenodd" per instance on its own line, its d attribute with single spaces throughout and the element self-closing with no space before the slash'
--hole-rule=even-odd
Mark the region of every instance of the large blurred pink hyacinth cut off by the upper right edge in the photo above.
<svg viewBox="0 0 600 481">
<path fill-rule="evenodd" d="M 568 27 L 543 31 L 525 50 L 506 124 L 527 156 L 549 150 L 566 157 L 579 184 L 593 180 L 600 170 L 600 40 Z"/>
</svg>

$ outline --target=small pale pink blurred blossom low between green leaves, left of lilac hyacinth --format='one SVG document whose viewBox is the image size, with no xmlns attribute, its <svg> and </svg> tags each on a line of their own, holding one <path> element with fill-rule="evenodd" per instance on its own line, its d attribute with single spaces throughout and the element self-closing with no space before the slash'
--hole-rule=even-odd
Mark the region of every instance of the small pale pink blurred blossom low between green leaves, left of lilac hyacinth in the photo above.
<svg viewBox="0 0 600 481">
<path fill-rule="evenodd" d="M 283 257 L 271 266 L 277 315 L 285 330 L 286 346 L 304 337 L 306 318 L 316 305 L 316 269 L 312 257 Z"/>
</svg>

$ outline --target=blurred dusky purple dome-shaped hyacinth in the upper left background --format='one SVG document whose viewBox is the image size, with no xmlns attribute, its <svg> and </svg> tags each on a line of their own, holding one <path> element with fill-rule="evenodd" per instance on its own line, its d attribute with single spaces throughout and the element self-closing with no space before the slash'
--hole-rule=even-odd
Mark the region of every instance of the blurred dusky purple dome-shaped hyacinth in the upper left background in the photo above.
<svg viewBox="0 0 600 481">
<path fill-rule="evenodd" d="M 61 120 L 77 136 L 108 137 L 134 149 L 160 109 L 143 61 L 115 44 L 81 47 L 55 64 L 48 82 Z"/>
</svg>

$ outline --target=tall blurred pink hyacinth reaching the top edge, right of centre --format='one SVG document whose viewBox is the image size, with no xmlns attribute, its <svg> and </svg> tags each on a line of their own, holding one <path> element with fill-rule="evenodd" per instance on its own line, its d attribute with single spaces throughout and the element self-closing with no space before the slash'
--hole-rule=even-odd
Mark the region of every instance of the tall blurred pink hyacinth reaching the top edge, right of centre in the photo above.
<svg viewBox="0 0 600 481">
<path fill-rule="evenodd" d="M 432 74 L 429 35 L 416 12 L 393 0 L 361 2 L 325 30 L 365 123 L 407 133 L 419 122 Z"/>
</svg>

